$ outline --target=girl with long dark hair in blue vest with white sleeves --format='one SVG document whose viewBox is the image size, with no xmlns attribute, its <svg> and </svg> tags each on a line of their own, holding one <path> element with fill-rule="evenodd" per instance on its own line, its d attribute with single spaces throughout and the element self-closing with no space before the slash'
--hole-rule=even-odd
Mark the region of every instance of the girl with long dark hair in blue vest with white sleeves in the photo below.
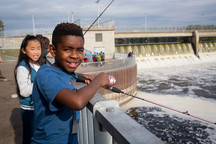
<svg viewBox="0 0 216 144">
<path fill-rule="evenodd" d="M 21 44 L 14 70 L 23 123 L 23 144 L 30 144 L 33 135 L 34 107 L 32 102 L 33 81 L 40 65 L 41 45 L 32 35 L 27 35 Z"/>
</svg>

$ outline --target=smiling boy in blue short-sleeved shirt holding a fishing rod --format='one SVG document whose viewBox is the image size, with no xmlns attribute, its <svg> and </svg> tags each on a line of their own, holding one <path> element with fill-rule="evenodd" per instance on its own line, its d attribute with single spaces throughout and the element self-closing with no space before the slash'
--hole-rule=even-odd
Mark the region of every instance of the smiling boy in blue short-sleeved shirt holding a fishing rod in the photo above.
<svg viewBox="0 0 216 144">
<path fill-rule="evenodd" d="M 32 143 L 78 143 L 77 134 L 71 134 L 74 133 L 72 118 L 79 119 L 77 110 L 86 106 L 98 88 L 111 85 L 105 73 L 94 79 L 86 75 L 91 83 L 86 81 L 88 85 L 77 91 L 71 85 L 71 80 L 78 77 L 75 70 L 83 61 L 84 37 L 79 26 L 58 24 L 53 31 L 52 44 L 50 50 L 55 63 L 42 66 L 34 82 L 35 130 Z"/>
</svg>

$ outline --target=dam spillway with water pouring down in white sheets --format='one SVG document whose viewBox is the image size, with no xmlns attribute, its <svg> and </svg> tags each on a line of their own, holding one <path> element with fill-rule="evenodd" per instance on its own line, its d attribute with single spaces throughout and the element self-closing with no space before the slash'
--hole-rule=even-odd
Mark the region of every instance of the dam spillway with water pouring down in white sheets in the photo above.
<svg viewBox="0 0 216 144">
<path fill-rule="evenodd" d="M 130 51 L 136 56 L 137 68 L 157 68 L 199 64 L 216 60 L 216 42 L 200 42 L 198 57 L 191 43 L 133 44 L 115 47 L 117 53 Z"/>
</svg>

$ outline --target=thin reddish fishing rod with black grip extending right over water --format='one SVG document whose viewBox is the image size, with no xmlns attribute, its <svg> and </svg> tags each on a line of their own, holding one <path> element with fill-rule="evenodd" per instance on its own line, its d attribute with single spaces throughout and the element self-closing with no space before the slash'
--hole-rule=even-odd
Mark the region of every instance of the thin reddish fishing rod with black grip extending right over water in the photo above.
<svg viewBox="0 0 216 144">
<path fill-rule="evenodd" d="M 77 82 L 83 82 L 83 83 L 85 83 L 85 80 L 89 80 L 89 79 L 86 79 L 86 78 L 84 78 L 84 77 L 78 76 Z M 90 80 L 89 80 L 89 81 L 90 81 Z M 181 113 L 181 114 L 184 114 L 184 115 L 193 117 L 193 118 L 195 118 L 195 119 L 199 119 L 199 120 L 202 120 L 202 121 L 205 121 L 205 122 L 208 122 L 208 123 L 211 123 L 211 124 L 216 125 L 216 122 L 212 122 L 212 121 L 209 121 L 209 120 L 200 118 L 200 117 L 198 117 L 198 116 L 191 115 L 191 114 L 189 114 L 188 111 L 182 112 L 182 111 L 176 110 L 176 109 L 174 109 L 174 108 L 171 108 L 171 107 L 168 107 L 168 106 L 165 106 L 165 105 L 162 105 L 162 104 L 159 104 L 159 103 L 156 103 L 156 102 L 153 102 L 153 101 L 150 101 L 150 100 L 141 98 L 141 97 L 137 97 L 137 96 L 134 96 L 134 95 L 129 94 L 129 93 L 126 93 L 126 92 L 123 92 L 122 90 L 120 90 L 119 88 L 116 88 L 116 87 L 105 87 L 105 89 L 110 90 L 110 91 L 115 92 L 115 93 L 122 93 L 122 94 L 124 94 L 124 95 L 128 95 L 128 96 L 131 96 L 131 97 L 133 97 L 133 98 L 140 99 L 140 100 L 142 100 L 142 101 L 146 101 L 146 102 L 148 102 L 148 103 L 152 103 L 152 104 L 154 104 L 154 105 L 158 105 L 158 106 L 161 106 L 161 107 L 163 107 L 163 108 L 166 108 L 166 109 L 169 109 L 169 110 L 172 110 L 172 111 L 175 111 L 175 112 L 178 112 L 178 113 Z"/>
</svg>

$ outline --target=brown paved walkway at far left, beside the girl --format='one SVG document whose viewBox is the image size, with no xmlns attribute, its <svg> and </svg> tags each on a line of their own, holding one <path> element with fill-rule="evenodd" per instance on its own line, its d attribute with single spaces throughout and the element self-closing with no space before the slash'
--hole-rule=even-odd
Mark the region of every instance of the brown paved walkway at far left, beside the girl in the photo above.
<svg viewBox="0 0 216 144">
<path fill-rule="evenodd" d="M 0 63 L 3 77 L 0 79 L 0 144 L 22 143 L 22 122 L 18 98 L 12 98 L 16 93 L 13 71 L 16 63 Z"/>
</svg>

